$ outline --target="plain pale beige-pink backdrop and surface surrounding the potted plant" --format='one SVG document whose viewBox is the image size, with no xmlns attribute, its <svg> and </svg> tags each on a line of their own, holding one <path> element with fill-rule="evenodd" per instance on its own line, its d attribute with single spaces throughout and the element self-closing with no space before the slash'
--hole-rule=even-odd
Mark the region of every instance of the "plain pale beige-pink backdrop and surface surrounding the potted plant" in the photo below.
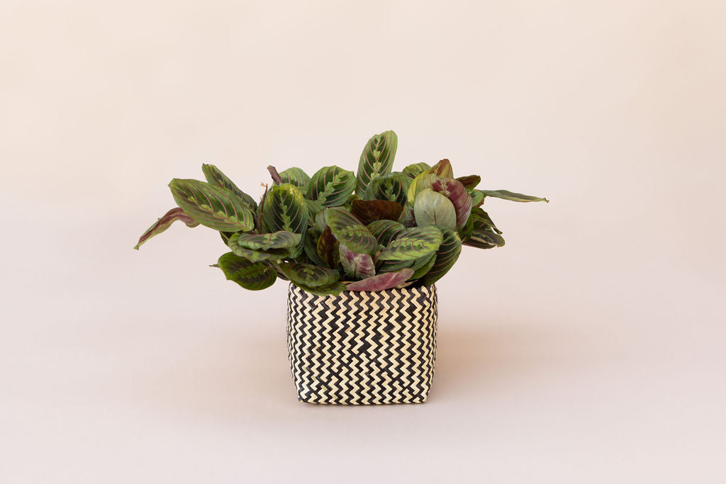
<svg viewBox="0 0 726 484">
<path fill-rule="evenodd" d="M 723 483 L 722 1 L 0 4 L 0 482 Z M 449 157 L 506 247 L 439 284 L 428 403 L 297 403 L 173 177 Z"/>
</svg>

